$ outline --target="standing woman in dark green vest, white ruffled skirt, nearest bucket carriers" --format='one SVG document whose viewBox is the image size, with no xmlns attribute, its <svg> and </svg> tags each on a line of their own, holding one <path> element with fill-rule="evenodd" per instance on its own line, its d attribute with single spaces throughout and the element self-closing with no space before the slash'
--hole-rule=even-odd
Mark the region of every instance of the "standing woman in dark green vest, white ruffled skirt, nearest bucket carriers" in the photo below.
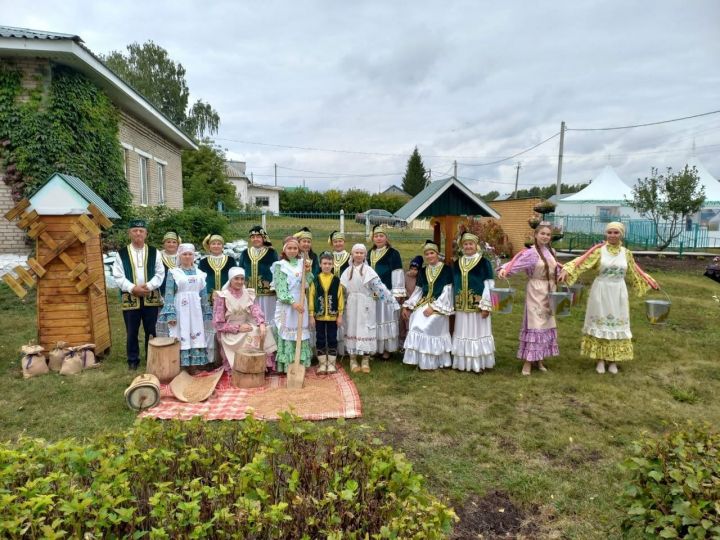
<svg viewBox="0 0 720 540">
<path fill-rule="evenodd" d="M 479 239 L 466 232 L 460 237 L 462 254 L 453 265 L 455 328 L 452 337 L 453 369 L 482 373 L 495 365 L 490 287 L 493 270 L 478 251 Z"/>
</svg>

